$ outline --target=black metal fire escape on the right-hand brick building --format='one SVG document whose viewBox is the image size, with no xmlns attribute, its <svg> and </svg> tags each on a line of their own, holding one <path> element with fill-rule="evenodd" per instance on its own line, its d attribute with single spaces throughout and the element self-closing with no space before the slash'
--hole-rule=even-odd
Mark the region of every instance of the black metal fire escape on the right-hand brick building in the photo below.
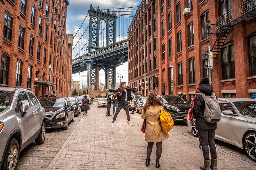
<svg viewBox="0 0 256 170">
<path fill-rule="evenodd" d="M 204 44 L 203 41 L 204 49 L 202 56 L 205 68 L 208 68 L 208 65 L 210 64 L 210 62 L 208 62 L 208 47 L 212 46 L 210 51 L 212 52 L 213 62 L 217 63 L 217 57 L 232 27 L 251 18 L 256 19 L 256 0 L 244 0 L 241 4 L 232 8 L 230 11 L 227 11 L 225 14 L 221 15 L 214 21 L 208 22 L 202 28 L 203 35 L 206 34 L 210 37 L 209 34 L 212 34 L 212 40 L 216 38 L 213 45 L 209 42 L 209 39 L 206 44 Z"/>
</svg>

